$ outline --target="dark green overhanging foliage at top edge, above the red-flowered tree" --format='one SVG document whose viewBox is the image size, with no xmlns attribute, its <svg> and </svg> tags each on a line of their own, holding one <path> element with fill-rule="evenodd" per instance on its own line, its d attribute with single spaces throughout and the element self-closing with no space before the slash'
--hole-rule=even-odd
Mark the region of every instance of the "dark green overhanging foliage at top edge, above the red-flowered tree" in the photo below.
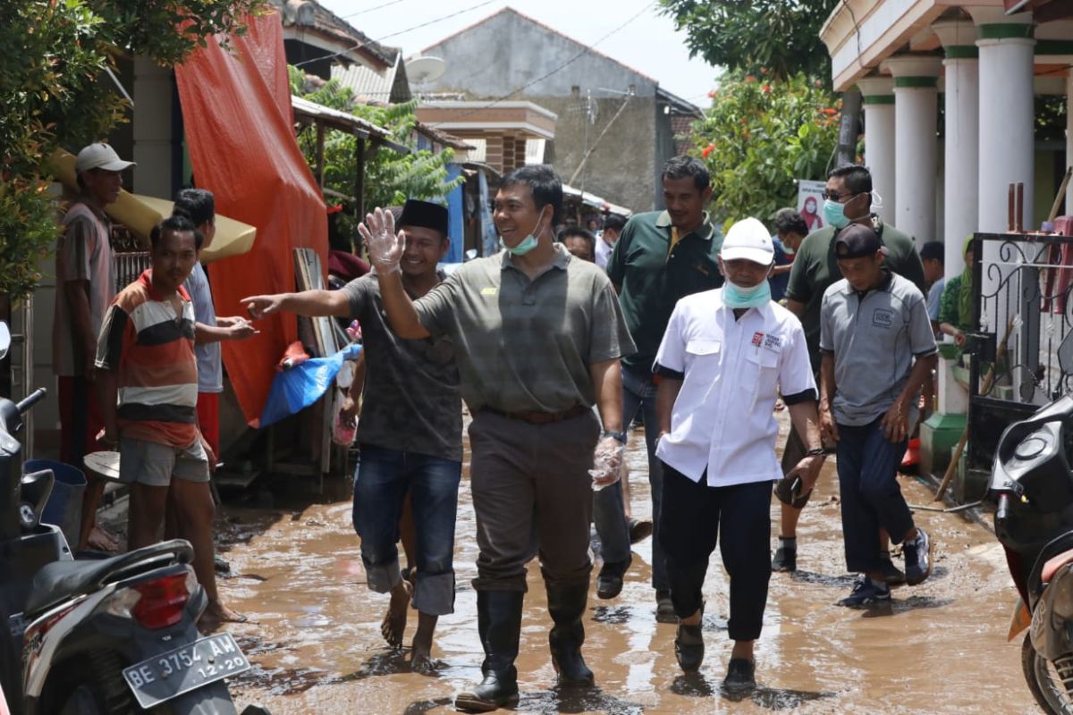
<svg viewBox="0 0 1073 715">
<path fill-rule="evenodd" d="M 774 78 L 798 72 L 829 83 L 831 58 L 820 28 L 839 0 L 660 0 L 690 55 L 729 70 Z"/>
</svg>

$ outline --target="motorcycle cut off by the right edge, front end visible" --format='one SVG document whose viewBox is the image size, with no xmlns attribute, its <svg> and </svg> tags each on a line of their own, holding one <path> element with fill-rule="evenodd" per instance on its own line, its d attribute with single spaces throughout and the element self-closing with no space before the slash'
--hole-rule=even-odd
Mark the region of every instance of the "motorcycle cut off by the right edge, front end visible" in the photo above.
<svg viewBox="0 0 1073 715">
<path fill-rule="evenodd" d="M 1064 371 L 1063 366 L 1063 371 Z M 1073 397 L 1002 433 L 988 494 L 1020 596 L 1009 640 L 1028 630 L 1021 668 L 1048 713 L 1073 713 Z"/>
</svg>

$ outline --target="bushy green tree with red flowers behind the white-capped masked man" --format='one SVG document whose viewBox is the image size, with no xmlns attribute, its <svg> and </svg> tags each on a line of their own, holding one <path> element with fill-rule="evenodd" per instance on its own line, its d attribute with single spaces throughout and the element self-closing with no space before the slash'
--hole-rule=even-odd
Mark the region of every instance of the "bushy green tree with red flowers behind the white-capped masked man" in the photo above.
<svg viewBox="0 0 1073 715">
<path fill-rule="evenodd" d="M 796 179 L 824 179 L 838 140 L 841 103 L 818 79 L 732 72 L 693 124 L 693 153 L 711 173 L 717 222 L 769 220 L 796 206 Z"/>
</svg>

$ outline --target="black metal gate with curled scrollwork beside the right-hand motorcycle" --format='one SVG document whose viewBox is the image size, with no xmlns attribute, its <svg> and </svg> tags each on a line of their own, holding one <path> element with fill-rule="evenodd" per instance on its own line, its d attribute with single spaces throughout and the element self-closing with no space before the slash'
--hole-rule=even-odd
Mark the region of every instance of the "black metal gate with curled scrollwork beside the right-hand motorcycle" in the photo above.
<svg viewBox="0 0 1073 715">
<path fill-rule="evenodd" d="M 1073 237 L 976 234 L 969 466 L 990 468 L 1010 422 L 1070 391 L 1058 347 L 1073 330 Z"/>
</svg>

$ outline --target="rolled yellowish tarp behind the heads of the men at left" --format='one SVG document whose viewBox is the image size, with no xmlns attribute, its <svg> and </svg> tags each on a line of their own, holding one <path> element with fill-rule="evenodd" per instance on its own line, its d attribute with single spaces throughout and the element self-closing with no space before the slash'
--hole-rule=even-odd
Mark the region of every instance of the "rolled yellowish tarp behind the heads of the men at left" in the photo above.
<svg viewBox="0 0 1073 715">
<path fill-rule="evenodd" d="M 64 187 L 71 191 L 78 191 L 78 181 L 75 179 L 74 174 L 74 161 L 72 154 L 60 151 L 53 157 L 52 165 L 53 170 L 56 173 L 56 178 Z M 105 206 L 104 212 L 113 221 L 121 223 L 129 228 L 148 247 L 149 232 L 161 220 L 172 215 L 174 206 L 175 204 L 166 198 L 132 194 L 120 189 L 119 199 L 115 204 Z M 252 248 L 253 239 L 256 238 L 256 235 L 258 229 L 250 224 L 217 214 L 216 238 L 212 239 L 211 248 L 202 251 L 202 263 L 211 263 L 220 258 L 247 253 Z"/>
</svg>

